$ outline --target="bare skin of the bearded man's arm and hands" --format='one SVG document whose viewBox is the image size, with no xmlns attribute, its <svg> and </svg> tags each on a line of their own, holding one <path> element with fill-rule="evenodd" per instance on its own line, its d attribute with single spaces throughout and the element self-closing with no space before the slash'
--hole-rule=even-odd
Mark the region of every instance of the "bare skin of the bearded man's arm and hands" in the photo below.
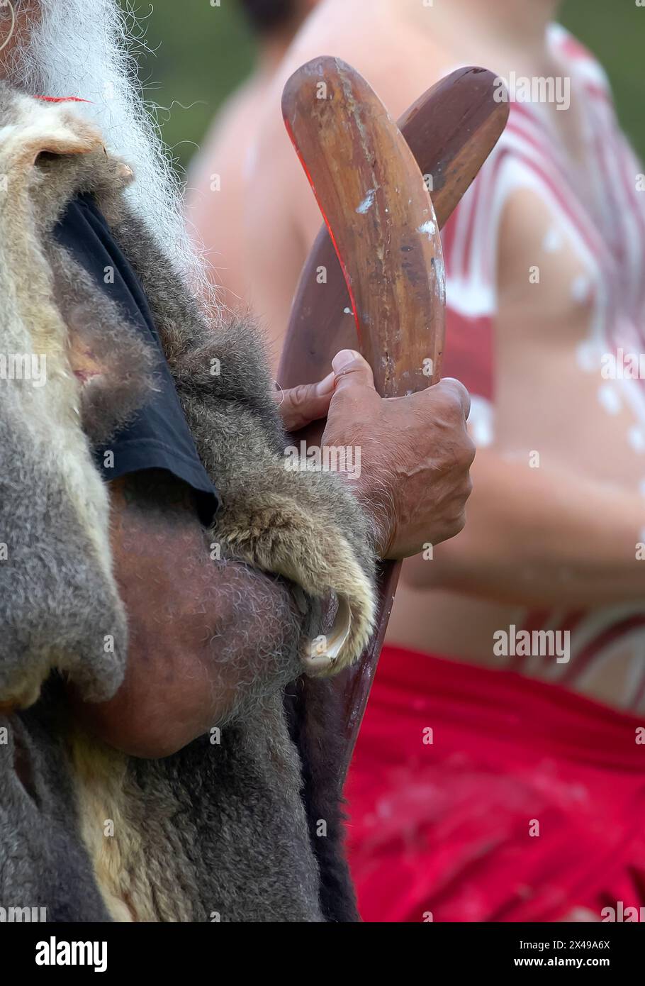
<svg viewBox="0 0 645 986">
<path fill-rule="evenodd" d="M 355 494 L 373 519 L 378 553 L 402 558 L 464 525 L 474 447 L 466 430 L 469 398 L 457 381 L 385 400 L 365 361 L 350 350 L 318 385 L 277 391 L 286 427 L 328 415 L 324 445 L 359 446 Z M 165 756 L 226 718 L 240 687 L 240 662 L 218 663 L 237 632 L 230 591 L 252 598 L 238 650 L 249 661 L 259 640 L 271 646 L 263 612 L 293 605 L 286 586 L 243 565 L 214 566 L 190 491 L 174 480 L 112 484 L 112 550 L 130 624 L 128 668 L 109 702 L 78 713 L 101 739 L 135 756 Z M 137 549 L 137 543 L 140 548 Z"/>
</svg>

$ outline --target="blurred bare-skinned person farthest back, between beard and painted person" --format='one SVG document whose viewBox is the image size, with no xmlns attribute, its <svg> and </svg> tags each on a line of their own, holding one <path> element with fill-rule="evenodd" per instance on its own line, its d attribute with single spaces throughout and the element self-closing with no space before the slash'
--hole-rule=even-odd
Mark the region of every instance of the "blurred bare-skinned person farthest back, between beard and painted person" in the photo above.
<svg viewBox="0 0 645 986">
<path fill-rule="evenodd" d="M 203 246 L 222 300 L 231 308 L 250 292 L 239 218 L 254 168 L 253 133 L 267 89 L 293 37 L 318 0 L 239 0 L 257 37 L 252 75 L 228 97 L 188 174 L 186 214 Z"/>
</svg>

